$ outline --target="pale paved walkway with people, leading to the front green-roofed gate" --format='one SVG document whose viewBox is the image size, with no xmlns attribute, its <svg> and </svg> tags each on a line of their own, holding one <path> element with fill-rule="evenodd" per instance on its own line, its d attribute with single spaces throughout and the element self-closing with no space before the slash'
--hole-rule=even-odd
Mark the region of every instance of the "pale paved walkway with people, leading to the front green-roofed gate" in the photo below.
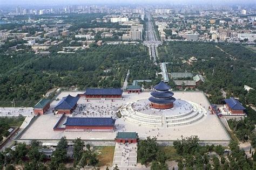
<svg viewBox="0 0 256 170">
<path fill-rule="evenodd" d="M 114 148 L 113 167 L 116 165 L 120 169 L 130 169 L 137 166 L 137 143 L 116 143 L 116 147 Z"/>
</svg>

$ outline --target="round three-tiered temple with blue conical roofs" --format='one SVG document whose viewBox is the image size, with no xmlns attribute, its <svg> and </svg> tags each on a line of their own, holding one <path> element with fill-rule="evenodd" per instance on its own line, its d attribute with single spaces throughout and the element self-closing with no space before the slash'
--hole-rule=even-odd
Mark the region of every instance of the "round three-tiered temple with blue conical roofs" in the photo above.
<svg viewBox="0 0 256 170">
<path fill-rule="evenodd" d="M 173 102 L 176 98 L 172 97 L 174 94 L 169 91 L 171 87 L 161 81 L 157 86 L 154 87 L 149 101 L 151 107 L 154 109 L 170 109 L 173 108 Z"/>
</svg>

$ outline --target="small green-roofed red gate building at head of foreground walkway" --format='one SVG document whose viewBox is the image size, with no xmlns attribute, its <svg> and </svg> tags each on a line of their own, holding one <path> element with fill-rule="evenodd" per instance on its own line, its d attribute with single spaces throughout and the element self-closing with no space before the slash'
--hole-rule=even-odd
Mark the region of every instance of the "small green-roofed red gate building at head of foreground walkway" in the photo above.
<svg viewBox="0 0 256 170">
<path fill-rule="evenodd" d="M 136 132 L 117 132 L 117 136 L 114 139 L 117 143 L 137 143 L 138 142 L 138 133 Z"/>
</svg>

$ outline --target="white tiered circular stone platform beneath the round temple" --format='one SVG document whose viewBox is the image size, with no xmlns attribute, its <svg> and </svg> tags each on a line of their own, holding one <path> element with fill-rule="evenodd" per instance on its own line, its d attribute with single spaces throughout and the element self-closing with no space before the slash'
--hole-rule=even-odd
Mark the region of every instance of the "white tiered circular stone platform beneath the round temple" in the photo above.
<svg viewBox="0 0 256 170">
<path fill-rule="evenodd" d="M 147 98 L 126 103 L 120 112 L 127 121 L 163 128 L 196 123 L 207 115 L 203 107 L 190 101 L 176 100 L 173 108 L 163 110 L 152 108 Z"/>
</svg>

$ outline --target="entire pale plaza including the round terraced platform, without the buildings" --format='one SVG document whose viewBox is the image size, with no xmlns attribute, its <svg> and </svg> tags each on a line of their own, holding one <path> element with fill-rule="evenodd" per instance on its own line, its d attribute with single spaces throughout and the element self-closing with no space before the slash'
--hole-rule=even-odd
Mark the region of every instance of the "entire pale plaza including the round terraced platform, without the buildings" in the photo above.
<svg viewBox="0 0 256 170">
<path fill-rule="evenodd" d="M 116 119 L 114 131 L 53 131 L 62 115 L 56 115 L 53 108 L 63 97 L 77 96 L 84 91 L 63 91 L 50 103 L 49 110 L 42 116 L 37 116 L 30 125 L 24 129 L 18 140 L 31 141 L 36 139 L 44 143 L 56 143 L 65 136 L 68 140 L 81 138 L 95 145 L 115 145 L 117 132 L 137 132 L 139 139 L 156 137 L 159 144 L 171 145 L 173 140 L 182 137 L 198 136 L 201 143 L 227 145 L 230 137 L 219 118 L 211 114 L 210 103 L 206 96 L 200 91 L 174 91 L 176 98 L 174 107 L 164 111 L 146 107 L 150 92 L 126 93 L 122 98 L 111 99 L 87 99 L 80 96 L 77 107 L 69 117 L 112 117 Z M 132 106 L 131 111 L 124 112 Z M 117 117 L 117 112 L 122 115 Z M 163 112 L 164 114 L 159 114 Z M 142 115 L 139 115 L 142 114 Z M 136 119 L 140 116 L 138 122 Z M 148 115 L 148 116 L 145 116 Z M 173 117 L 174 115 L 174 117 Z M 176 116 L 177 117 L 176 117 Z M 181 115 L 181 116 L 180 116 Z M 160 116 L 158 118 L 155 118 Z M 67 116 L 60 120 L 59 127 L 63 127 Z M 159 119 L 159 124 L 154 125 L 152 119 Z M 144 122 L 145 121 L 145 122 Z M 183 122 L 179 124 L 179 122 Z"/>
</svg>

